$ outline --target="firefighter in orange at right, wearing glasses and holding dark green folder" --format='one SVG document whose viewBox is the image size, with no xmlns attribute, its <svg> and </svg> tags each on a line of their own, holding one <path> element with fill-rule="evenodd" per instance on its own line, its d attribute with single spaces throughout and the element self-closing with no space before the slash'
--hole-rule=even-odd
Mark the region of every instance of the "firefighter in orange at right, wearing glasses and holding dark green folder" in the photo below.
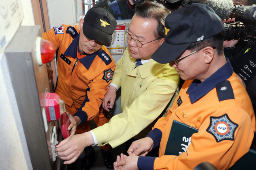
<svg viewBox="0 0 256 170">
<path fill-rule="evenodd" d="M 194 170 L 209 162 L 229 169 L 248 152 L 256 123 L 250 98 L 223 54 L 222 21 L 207 5 L 192 4 L 169 14 L 165 27 L 165 42 L 152 58 L 169 63 L 186 81 L 166 116 L 132 143 L 129 156 L 117 156 L 114 168 Z M 158 145 L 158 158 L 146 156 Z"/>
</svg>

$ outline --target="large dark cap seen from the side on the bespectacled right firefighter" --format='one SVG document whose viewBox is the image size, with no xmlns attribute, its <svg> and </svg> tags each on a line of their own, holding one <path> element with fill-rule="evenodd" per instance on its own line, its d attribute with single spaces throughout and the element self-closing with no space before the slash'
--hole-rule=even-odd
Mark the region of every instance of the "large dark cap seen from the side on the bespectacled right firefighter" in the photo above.
<svg viewBox="0 0 256 170">
<path fill-rule="evenodd" d="M 165 64 L 178 58 L 191 43 L 205 40 L 224 30 L 222 20 L 205 4 L 185 5 L 165 19 L 165 42 L 151 56 Z"/>
</svg>

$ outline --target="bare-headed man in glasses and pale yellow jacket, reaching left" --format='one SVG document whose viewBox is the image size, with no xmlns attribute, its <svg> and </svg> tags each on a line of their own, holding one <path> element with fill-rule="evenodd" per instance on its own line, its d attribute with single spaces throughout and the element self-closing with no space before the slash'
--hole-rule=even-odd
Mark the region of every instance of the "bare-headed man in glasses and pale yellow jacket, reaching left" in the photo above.
<svg viewBox="0 0 256 170">
<path fill-rule="evenodd" d="M 151 55 L 164 42 L 163 24 L 169 13 L 162 4 L 150 1 L 136 6 L 127 30 L 128 48 L 117 62 L 112 81 L 117 88 L 122 87 L 122 112 L 101 127 L 60 142 L 56 152 L 67 160 L 64 163 L 75 161 L 88 145 L 109 143 L 114 148 L 123 144 L 150 125 L 168 106 L 177 89 L 179 75 L 168 64 L 152 60 Z M 115 95 L 113 84 L 108 91 Z M 110 104 L 109 99 L 104 102 Z M 150 130 L 146 129 L 147 133 Z M 143 131 L 137 137 L 145 137 L 147 133 Z"/>
</svg>

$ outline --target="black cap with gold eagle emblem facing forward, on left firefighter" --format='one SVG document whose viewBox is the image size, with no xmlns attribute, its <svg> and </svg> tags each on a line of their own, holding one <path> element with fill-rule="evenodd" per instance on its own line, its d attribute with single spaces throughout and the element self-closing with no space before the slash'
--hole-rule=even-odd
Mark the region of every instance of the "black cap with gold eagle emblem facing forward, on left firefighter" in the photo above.
<svg viewBox="0 0 256 170">
<path fill-rule="evenodd" d="M 102 7 L 92 7 L 84 17 L 83 34 L 91 40 L 110 46 L 116 26 L 117 21 L 109 11 Z"/>
</svg>

